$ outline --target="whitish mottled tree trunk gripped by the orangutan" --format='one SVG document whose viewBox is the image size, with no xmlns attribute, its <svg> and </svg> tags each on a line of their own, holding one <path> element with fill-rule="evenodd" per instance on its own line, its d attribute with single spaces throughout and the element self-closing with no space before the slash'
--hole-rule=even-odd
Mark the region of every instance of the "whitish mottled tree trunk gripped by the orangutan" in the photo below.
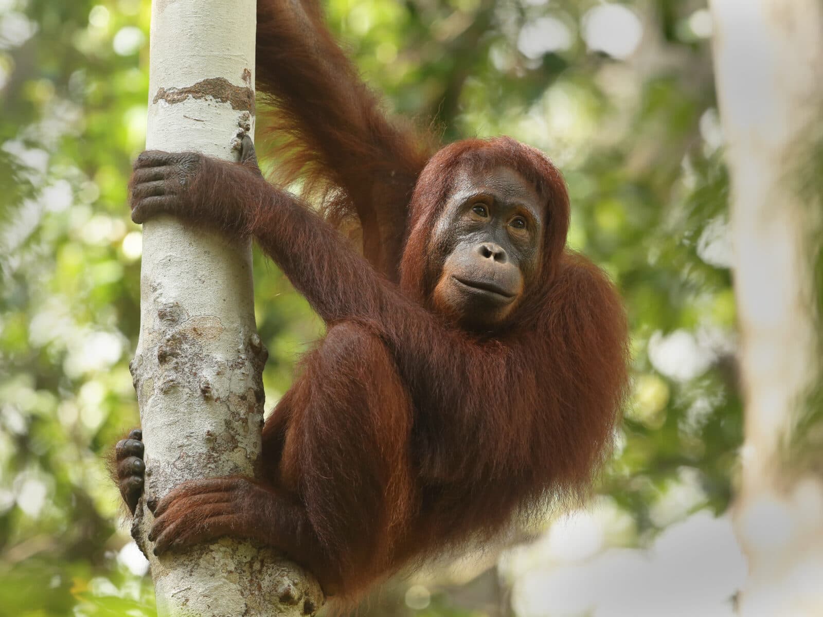
<svg viewBox="0 0 823 617">
<path fill-rule="evenodd" d="M 147 148 L 236 160 L 254 113 L 253 0 L 155 0 Z M 143 226 L 141 332 L 133 377 L 145 497 L 183 480 L 253 476 L 266 351 L 254 324 L 249 243 L 162 217 Z M 146 499 L 133 536 L 151 560 L 160 615 L 308 615 L 313 578 L 272 550 L 223 539 L 157 559 Z"/>
</svg>

